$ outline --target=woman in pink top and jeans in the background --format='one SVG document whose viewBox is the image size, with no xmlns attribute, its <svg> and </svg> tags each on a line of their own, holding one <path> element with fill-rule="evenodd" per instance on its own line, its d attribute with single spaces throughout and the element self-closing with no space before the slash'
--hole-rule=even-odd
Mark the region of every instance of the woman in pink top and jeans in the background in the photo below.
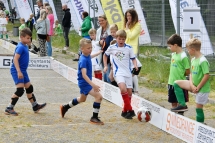
<svg viewBox="0 0 215 143">
<path fill-rule="evenodd" d="M 53 26 L 54 26 L 54 15 L 53 15 L 51 6 L 46 6 L 46 13 L 48 14 L 47 18 L 49 19 L 49 22 L 50 22 L 50 30 L 49 30 L 49 33 L 47 33 L 50 36 L 50 41 L 46 42 L 47 43 L 46 48 L 47 48 L 47 55 L 52 56 L 51 36 L 54 35 L 54 28 L 53 28 Z"/>
</svg>

